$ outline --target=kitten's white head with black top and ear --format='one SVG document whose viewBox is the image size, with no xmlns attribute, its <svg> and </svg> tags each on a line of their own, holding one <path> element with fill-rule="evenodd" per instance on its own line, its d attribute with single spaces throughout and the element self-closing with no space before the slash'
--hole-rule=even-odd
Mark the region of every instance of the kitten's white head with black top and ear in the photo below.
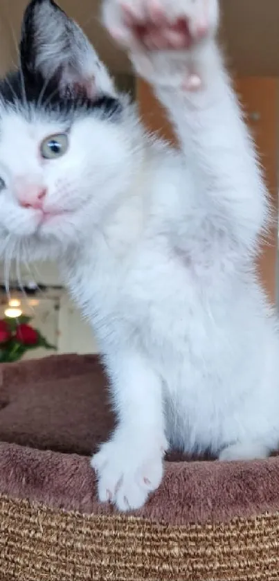
<svg viewBox="0 0 279 581">
<path fill-rule="evenodd" d="M 0 81 L 0 253 L 50 258 L 93 229 L 125 187 L 133 123 L 78 25 L 31 1 L 19 69 Z"/>
</svg>

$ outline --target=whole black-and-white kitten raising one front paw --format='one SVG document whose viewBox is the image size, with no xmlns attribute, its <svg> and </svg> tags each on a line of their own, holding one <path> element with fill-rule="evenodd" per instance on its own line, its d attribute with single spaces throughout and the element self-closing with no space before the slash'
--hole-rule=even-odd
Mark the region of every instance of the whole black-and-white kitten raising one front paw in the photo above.
<svg viewBox="0 0 279 581">
<path fill-rule="evenodd" d="M 264 458 L 279 440 L 278 323 L 254 269 L 269 206 L 215 42 L 217 0 L 106 0 L 181 147 L 145 133 L 53 0 L 24 16 L 0 84 L 0 240 L 55 259 L 92 323 L 118 427 L 100 501 L 145 503 L 168 447 Z"/>
</svg>

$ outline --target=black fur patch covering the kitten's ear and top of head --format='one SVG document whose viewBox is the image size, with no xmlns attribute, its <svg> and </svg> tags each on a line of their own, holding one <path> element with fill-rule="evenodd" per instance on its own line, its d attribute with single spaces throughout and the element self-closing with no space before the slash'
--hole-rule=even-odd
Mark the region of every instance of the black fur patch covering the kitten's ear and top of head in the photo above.
<svg viewBox="0 0 279 581">
<path fill-rule="evenodd" d="M 55 42 L 59 53 L 53 52 Z M 49 60 L 49 48 L 54 62 Z M 82 59 L 77 57 L 86 49 L 87 38 L 55 1 L 31 0 L 22 21 L 19 69 L 0 80 L 2 102 L 19 107 L 25 114 L 37 108 L 74 116 L 98 109 L 101 118 L 117 120 L 123 109 L 118 98 L 100 93 L 95 96 L 88 88 Z M 57 62 L 55 54 L 60 57 Z M 65 76 L 65 71 L 73 74 Z"/>
</svg>

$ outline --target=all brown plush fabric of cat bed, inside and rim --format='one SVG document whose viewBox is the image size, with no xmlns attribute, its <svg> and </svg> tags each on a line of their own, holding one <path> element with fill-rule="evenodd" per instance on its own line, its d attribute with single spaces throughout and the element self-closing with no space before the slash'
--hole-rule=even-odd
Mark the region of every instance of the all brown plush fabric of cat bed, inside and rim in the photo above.
<svg viewBox="0 0 279 581">
<path fill-rule="evenodd" d="M 0 494 L 55 510 L 114 515 L 100 506 L 88 456 L 114 426 L 96 357 L 0 366 Z M 137 517 L 157 524 L 228 522 L 279 510 L 279 459 L 166 462 L 159 490 Z"/>
</svg>

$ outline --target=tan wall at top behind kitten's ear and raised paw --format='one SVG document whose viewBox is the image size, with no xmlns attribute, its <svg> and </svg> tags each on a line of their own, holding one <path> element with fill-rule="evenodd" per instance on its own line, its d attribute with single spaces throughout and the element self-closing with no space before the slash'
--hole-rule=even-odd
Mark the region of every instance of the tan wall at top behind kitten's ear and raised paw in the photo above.
<svg viewBox="0 0 279 581">
<path fill-rule="evenodd" d="M 129 59 L 118 50 L 100 24 L 101 0 L 57 0 L 84 28 L 101 57 L 113 71 L 130 71 Z M 16 33 L 28 0 L 1 0 Z M 229 61 L 243 75 L 279 74 L 279 1 L 221 0 L 224 44 Z"/>
</svg>

